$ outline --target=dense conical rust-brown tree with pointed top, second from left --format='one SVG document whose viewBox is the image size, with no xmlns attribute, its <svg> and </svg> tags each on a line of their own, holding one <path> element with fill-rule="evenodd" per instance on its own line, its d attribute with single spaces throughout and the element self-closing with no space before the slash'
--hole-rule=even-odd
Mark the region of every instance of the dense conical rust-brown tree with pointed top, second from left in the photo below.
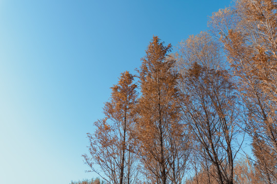
<svg viewBox="0 0 277 184">
<path fill-rule="evenodd" d="M 171 44 L 164 46 L 154 36 L 138 70 L 141 97 L 136 106 L 138 156 L 148 182 L 181 183 L 188 157 L 187 137 L 180 122 L 179 74 L 167 55 Z"/>
</svg>

